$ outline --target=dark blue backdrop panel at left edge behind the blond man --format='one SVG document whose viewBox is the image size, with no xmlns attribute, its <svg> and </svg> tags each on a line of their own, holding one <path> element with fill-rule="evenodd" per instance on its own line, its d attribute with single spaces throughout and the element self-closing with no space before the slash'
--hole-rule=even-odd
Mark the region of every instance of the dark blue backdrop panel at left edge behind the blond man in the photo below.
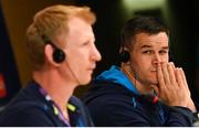
<svg viewBox="0 0 199 128">
<path fill-rule="evenodd" d="M 0 106 L 7 104 L 19 90 L 20 81 L 13 52 L 0 7 L 0 74 L 4 77 L 7 96 L 0 97 Z"/>
</svg>

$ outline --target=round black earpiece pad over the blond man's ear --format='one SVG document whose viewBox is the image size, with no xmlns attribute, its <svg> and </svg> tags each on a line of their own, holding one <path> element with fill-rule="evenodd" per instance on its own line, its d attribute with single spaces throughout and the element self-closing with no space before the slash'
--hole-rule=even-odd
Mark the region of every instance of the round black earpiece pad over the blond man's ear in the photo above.
<svg viewBox="0 0 199 128">
<path fill-rule="evenodd" d="M 62 63 L 65 60 L 65 54 L 62 50 L 54 47 L 53 61 L 56 63 Z"/>
</svg>

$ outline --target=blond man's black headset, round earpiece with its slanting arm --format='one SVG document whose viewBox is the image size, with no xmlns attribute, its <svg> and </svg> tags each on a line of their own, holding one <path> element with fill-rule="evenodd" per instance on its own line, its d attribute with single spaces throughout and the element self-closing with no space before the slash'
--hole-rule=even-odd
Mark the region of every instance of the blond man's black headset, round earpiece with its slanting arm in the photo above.
<svg viewBox="0 0 199 128">
<path fill-rule="evenodd" d="M 45 42 L 45 44 L 51 44 L 53 47 L 54 47 L 54 51 L 53 51 L 53 61 L 55 63 L 62 63 L 64 62 L 66 55 L 65 53 L 59 49 L 57 46 L 55 46 L 54 43 L 52 43 L 49 38 L 46 38 L 45 35 L 42 35 L 42 40 Z"/>
</svg>

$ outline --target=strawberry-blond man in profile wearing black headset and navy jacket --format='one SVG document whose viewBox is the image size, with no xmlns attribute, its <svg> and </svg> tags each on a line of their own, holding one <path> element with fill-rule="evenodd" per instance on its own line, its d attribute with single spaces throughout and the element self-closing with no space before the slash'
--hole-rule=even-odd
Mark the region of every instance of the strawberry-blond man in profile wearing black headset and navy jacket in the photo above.
<svg viewBox="0 0 199 128">
<path fill-rule="evenodd" d="M 72 96 L 92 79 L 101 60 L 88 7 L 52 6 L 39 11 L 27 30 L 32 81 L 6 107 L 0 126 L 83 127 L 92 120 Z"/>
</svg>

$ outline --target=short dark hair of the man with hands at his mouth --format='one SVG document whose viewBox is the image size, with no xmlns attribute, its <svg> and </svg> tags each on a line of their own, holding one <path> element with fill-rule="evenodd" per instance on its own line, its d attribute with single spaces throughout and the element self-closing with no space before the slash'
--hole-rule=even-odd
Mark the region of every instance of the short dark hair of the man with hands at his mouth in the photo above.
<svg viewBox="0 0 199 128">
<path fill-rule="evenodd" d="M 155 17 L 135 17 L 126 21 L 122 29 L 122 47 L 128 47 L 136 34 L 148 33 L 157 34 L 165 32 L 169 36 L 167 25 L 158 18 Z"/>
</svg>

